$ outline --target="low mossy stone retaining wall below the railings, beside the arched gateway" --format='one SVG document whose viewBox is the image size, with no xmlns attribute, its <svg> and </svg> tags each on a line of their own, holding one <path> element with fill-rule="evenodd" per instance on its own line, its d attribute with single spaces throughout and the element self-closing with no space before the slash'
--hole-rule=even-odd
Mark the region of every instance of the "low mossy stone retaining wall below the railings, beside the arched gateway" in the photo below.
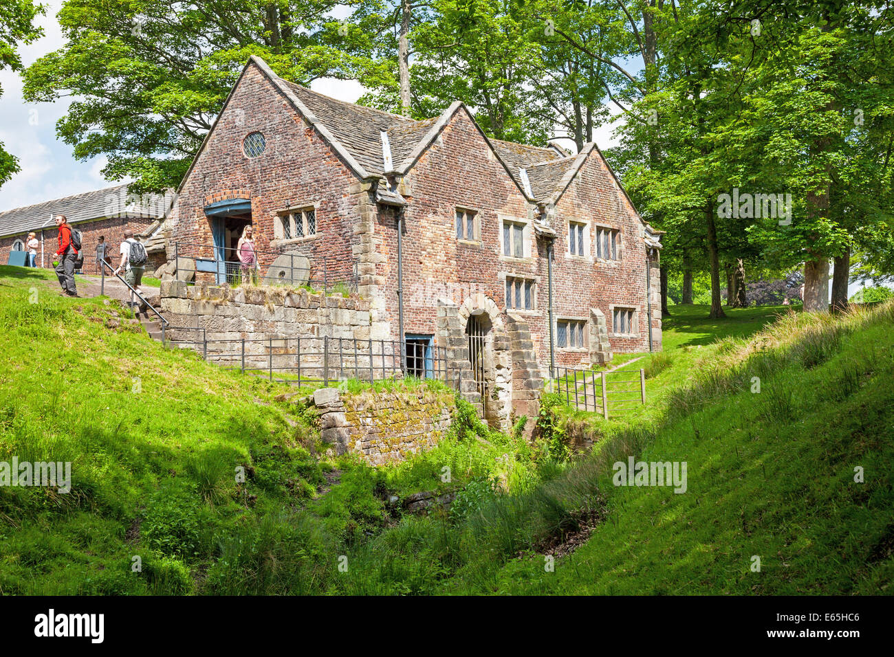
<svg viewBox="0 0 894 657">
<path fill-rule="evenodd" d="M 377 466 L 434 447 L 451 427 L 456 405 L 448 391 L 415 390 L 357 394 L 337 388 L 314 392 L 320 435 L 339 454 L 353 452 Z"/>
</svg>

